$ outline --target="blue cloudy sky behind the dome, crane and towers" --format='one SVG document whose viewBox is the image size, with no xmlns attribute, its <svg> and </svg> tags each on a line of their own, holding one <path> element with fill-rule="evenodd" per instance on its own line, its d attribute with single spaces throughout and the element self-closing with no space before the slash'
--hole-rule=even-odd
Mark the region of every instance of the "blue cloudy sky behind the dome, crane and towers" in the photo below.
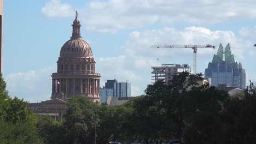
<svg viewBox="0 0 256 144">
<path fill-rule="evenodd" d="M 150 47 L 154 44 L 216 46 L 197 51 L 197 73 L 204 73 L 220 43 L 231 44 L 248 85 L 256 80 L 255 7 L 252 0 L 4 0 L 3 77 L 10 97 L 31 103 L 50 99 L 51 74 L 77 9 L 101 87 L 107 80 L 129 80 L 137 96 L 152 82 L 152 66 L 193 67 L 193 50 Z"/>
</svg>

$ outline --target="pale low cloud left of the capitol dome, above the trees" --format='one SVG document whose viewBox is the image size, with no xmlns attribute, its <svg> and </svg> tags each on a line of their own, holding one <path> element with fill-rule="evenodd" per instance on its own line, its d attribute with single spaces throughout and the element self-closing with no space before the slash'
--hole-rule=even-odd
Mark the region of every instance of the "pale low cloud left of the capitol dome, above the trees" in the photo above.
<svg viewBox="0 0 256 144">
<path fill-rule="evenodd" d="M 49 99 L 53 68 L 43 68 L 4 76 L 11 97 L 24 98 L 30 102 Z"/>
</svg>

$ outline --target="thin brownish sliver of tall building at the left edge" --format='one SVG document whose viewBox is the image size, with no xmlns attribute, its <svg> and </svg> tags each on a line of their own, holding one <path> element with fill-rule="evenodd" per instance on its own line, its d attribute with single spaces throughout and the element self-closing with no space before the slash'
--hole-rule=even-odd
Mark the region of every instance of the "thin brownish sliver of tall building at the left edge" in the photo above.
<svg viewBox="0 0 256 144">
<path fill-rule="evenodd" d="M 2 73 L 3 68 L 3 0 L 0 0 L 0 73 Z"/>
</svg>

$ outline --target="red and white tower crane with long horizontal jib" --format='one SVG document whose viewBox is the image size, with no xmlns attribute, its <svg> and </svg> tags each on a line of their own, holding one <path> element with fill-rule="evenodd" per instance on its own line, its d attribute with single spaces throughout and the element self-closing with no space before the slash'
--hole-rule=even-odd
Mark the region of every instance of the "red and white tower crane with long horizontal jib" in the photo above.
<svg viewBox="0 0 256 144">
<path fill-rule="evenodd" d="M 194 50 L 194 74 L 196 74 L 196 52 L 197 48 L 213 48 L 213 45 L 152 45 L 150 47 L 157 47 L 157 48 L 191 48 Z"/>
</svg>

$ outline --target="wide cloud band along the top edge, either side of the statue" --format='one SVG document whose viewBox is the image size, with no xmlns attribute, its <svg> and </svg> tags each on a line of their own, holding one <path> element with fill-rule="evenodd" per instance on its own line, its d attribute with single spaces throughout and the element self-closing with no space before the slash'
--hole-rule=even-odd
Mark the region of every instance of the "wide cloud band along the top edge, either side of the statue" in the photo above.
<svg viewBox="0 0 256 144">
<path fill-rule="evenodd" d="M 46 17 L 73 16 L 72 3 L 49 0 L 42 8 Z M 119 29 L 141 28 L 161 23 L 186 22 L 193 25 L 256 17 L 252 0 L 168 1 L 108 0 L 91 1 L 79 9 L 83 25 L 90 31 L 115 33 Z"/>
</svg>

